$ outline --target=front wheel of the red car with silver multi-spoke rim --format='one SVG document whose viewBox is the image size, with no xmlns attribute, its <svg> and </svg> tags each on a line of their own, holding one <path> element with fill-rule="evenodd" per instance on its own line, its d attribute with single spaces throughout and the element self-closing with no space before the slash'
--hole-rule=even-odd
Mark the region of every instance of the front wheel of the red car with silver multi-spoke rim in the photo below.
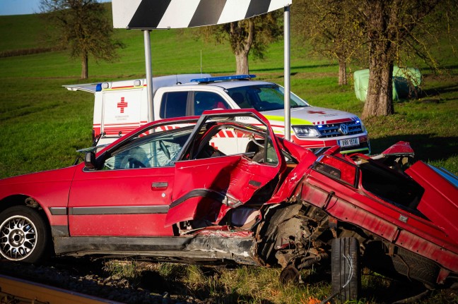
<svg viewBox="0 0 458 304">
<path fill-rule="evenodd" d="M 34 209 L 15 206 L 0 214 L 0 254 L 11 261 L 37 262 L 49 243 L 45 221 Z"/>
</svg>

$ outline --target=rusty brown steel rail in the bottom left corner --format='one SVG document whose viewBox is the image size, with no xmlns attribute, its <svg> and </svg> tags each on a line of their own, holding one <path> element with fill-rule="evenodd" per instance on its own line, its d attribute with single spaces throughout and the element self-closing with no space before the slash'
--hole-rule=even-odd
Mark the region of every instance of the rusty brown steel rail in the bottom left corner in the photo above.
<svg viewBox="0 0 458 304">
<path fill-rule="evenodd" d="M 0 274 L 1 304 L 120 304 L 75 291 Z"/>
</svg>

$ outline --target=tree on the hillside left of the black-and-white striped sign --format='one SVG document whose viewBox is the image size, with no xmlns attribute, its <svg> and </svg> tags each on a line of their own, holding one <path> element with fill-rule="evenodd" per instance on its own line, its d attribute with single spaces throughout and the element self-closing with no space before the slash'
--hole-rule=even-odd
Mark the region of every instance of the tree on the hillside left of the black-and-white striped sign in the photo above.
<svg viewBox="0 0 458 304">
<path fill-rule="evenodd" d="M 40 8 L 57 30 L 57 43 L 81 59 L 81 78 L 88 78 L 89 55 L 113 61 L 123 44 L 112 39 L 105 6 L 96 0 L 41 0 Z"/>
</svg>

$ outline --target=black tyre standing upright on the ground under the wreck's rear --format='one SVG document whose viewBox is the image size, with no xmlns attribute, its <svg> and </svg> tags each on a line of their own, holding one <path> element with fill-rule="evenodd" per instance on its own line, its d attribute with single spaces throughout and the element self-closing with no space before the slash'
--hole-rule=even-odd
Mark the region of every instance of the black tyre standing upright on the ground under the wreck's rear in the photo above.
<svg viewBox="0 0 458 304">
<path fill-rule="evenodd" d="M 341 301 L 357 300 L 361 284 L 358 240 L 335 238 L 331 245 L 332 294 Z"/>
</svg>

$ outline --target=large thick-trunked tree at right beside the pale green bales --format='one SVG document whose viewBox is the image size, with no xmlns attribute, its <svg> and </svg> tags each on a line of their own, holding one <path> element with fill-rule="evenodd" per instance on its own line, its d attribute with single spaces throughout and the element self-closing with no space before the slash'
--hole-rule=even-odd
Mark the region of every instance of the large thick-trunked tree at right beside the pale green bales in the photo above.
<svg viewBox="0 0 458 304">
<path fill-rule="evenodd" d="M 319 2 L 296 3 L 307 11 L 312 8 L 310 3 L 319 5 Z M 368 56 L 370 76 L 362 118 L 394 114 L 392 72 L 395 63 L 405 67 L 415 56 L 430 67 L 438 68 L 430 47 L 437 42 L 443 20 L 449 20 L 449 25 L 455 20 L 458 6 L 456 0 L 325 0 L 324 3 L 315 11 L 318 15 L 315 22 L 324 27 L 317 36 L 332 42 L 327 47 L 335 47 L 336 54 L 344 54 L 347 62 L 357 49 L 363 49 Z M 337 3 L 340 6 L 336 6 Z M 339 25 L 333 25 L 334 20 Z M 311 23 L 303 21 L 305 30 L 313 29 Z M 452 32 L 449 36 L 456 37 Z"/>
</svg>

